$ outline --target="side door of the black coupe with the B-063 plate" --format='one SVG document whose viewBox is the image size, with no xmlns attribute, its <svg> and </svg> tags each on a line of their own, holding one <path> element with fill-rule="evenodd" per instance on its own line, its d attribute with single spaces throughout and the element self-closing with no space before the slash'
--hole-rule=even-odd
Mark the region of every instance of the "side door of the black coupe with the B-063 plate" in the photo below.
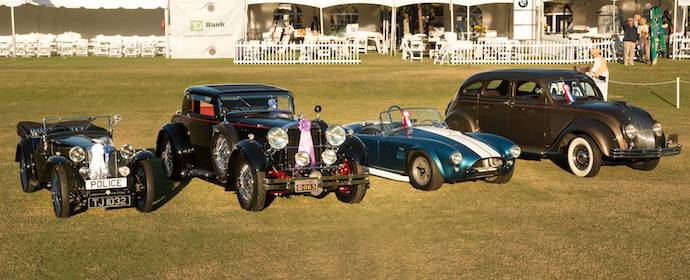
<svg viewBox="0 0 690 280">
<path fill-rule="evenodd" d="M 213 98 L 204 95 L 192 95 L 188 113 L 189 139 L 194 147 L 196 168 L 211 170 L 211 146 L 213 145 L 213 126 L 218 124 Z"/>
</svg>

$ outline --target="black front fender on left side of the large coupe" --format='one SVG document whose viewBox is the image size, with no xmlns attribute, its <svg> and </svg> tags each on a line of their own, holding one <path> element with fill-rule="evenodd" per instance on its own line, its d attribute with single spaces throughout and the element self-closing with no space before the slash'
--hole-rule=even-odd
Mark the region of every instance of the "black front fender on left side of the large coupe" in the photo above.
<svg viewBox="0 0 690 280">
<path fill-rule="evenodd" d="M 230 164 L 228 165 L 228 174 L 226 190 L 228 188 L 233 188 L 235 186 L 235 176 L 237 172 L 237 160 L 241 155 L 244 155 L 249 164 L 252 165 L 258 171 L 265 172 L 270 166 L 268 166 L 268 159 L 264 152 L 263 146 L 259 142 L 254 140 L 245 139 L 235 144 L 235 148 L 230 154 Z"/>
</svg>

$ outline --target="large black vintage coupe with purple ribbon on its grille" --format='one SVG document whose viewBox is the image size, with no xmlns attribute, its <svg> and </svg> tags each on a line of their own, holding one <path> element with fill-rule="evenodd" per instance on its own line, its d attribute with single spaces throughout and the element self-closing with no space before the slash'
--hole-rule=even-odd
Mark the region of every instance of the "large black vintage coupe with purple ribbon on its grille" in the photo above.
<svg viewBox="0 0 690 280">
<path fill-rule="evenodd" d="M 158 134 L 156 152 L 171 179 L 200 177 L 235 190 L 240 206 L 261 211 L 276 196 L 335 192 L 359 203 L 369 185 L 366 151 L 318 113 L 294 113 L 293 95 L 273 86 L 232 84 L 185 90 L 182 110 Z"/>
</svg>

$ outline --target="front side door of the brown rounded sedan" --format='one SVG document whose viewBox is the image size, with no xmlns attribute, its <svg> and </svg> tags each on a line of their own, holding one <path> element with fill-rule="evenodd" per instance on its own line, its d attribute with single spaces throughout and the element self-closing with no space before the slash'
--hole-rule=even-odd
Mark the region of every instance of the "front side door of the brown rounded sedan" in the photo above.
<svg viewBox="0 0 690 280">
<path fill-rule="evenodd" d="M 539 153 L 546 144 L 544 90 L 536 81 L 515 81 L 510 108 L 510 140 L 524 151 Z"/>
</svg>

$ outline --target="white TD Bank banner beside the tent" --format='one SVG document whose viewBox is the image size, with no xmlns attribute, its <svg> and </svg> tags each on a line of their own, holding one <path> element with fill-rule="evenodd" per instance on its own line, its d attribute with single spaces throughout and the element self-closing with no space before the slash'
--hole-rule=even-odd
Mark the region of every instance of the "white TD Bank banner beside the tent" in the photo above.
<svg viewBox="0 0 690 280">
<path fill-rule="evenodd" d="M 170 0 L 172 58 L 233 58 L 244 33 L 244 1 Z"/>
</svg>

